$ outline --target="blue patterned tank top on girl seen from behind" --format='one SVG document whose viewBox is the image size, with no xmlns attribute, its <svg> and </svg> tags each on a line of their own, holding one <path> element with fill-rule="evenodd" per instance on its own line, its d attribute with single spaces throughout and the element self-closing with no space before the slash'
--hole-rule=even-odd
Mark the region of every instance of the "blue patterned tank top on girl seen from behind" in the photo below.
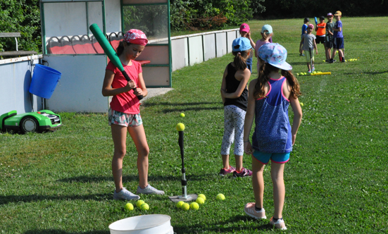
<svg viewBox="0 0 388 234">
<path fill-rule="evenodd" d="M 288 118 L 289 100 L 282 87 L 286 78 L 270 79 L 266 98 L 256 99 L 255 131 L 252 147 L 265 153 L 292 152 L 291 125 Z"/>
</svg>

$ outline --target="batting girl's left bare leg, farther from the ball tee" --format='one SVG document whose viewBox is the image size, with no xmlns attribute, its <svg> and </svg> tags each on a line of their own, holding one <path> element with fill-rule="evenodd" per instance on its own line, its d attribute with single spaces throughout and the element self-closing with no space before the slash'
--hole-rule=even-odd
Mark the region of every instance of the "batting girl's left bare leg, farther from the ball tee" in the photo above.
<svg viewBox="0 0 388 234">
<path fill-rule="evenodd" d="M 123 158 L 127 148 L 127 127 L 112 124 L 111 132 L 114 144 L 112 159 L 113 180 L 115 181 L 116 192 L 120 192 L 123 189 Z"/>
</svg>

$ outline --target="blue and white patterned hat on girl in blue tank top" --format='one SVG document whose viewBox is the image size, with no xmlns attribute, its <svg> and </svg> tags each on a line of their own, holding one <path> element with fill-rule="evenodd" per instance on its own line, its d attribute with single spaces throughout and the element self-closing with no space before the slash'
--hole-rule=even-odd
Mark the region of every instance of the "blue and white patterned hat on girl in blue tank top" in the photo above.
<svg viewBox="0 0 388 234">
<path fill-rule="evenodd" d="M 265 63 L 280 68 L 282 70 L 292 70 L 292 66 L 286 62 L 287 49 L 277 43 L 263 44 L 258 49 L 258 56 L 260 56 Z"/>
</svg>

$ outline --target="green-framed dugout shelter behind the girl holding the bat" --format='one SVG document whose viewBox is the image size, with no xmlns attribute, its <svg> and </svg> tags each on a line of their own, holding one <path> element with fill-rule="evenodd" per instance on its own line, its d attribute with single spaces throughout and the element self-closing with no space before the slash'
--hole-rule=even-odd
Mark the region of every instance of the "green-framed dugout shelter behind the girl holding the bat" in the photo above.
<svg viewBox="0 0 388 234">
<path fill-rule="evenodd" d="M 142 30 L 149 44 L 137 58 L 146 87 L 171 87 L 170 3 L 168 0 L 40 0 L 45 66 L 62 73 L 46 108 L 107 112 L 101 94 L 108 57 L 89 25 L 96 23 L 115 49 L 127 30 Z"/>
</svg>

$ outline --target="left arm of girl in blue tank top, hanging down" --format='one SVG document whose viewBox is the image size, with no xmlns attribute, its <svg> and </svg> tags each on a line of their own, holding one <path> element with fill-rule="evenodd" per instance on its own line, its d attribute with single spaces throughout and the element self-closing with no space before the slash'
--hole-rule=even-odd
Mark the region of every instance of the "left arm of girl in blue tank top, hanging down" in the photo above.
<svg viewBox="0 0 388 234">
<path fill-rule="evenodd" d="M 254 98 L 254 90 L 256 85 L 257 79 L 252 80 L 251 83 L 249 83 L 249 94 L 248 94 L 248 107 L 246 109 L 245 114 L 245 121 L 244 121 L 244 152 L 245 154 L 252 154 L 253 149 L 251 142 L 249 141 L 249 135 L 251 134 L 251 128 L 254 123 L 254 117 L 255 117 L 255 105 L 256 101 Z"/>
</svg>

